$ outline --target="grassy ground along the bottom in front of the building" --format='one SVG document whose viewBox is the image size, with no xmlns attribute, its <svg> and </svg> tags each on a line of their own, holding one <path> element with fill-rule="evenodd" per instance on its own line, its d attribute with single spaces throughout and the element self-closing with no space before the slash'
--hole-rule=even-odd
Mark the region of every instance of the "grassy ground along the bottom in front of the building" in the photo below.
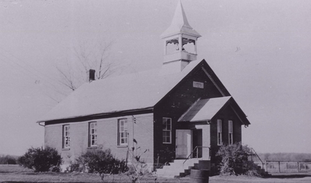
<svg viewBox="0 0 311 183">
<path fill-rule="evenodd" d="M 142 182 L 155 182 L 155 177 L 147 175 Z M 20 166 L 0 165 L 0 182 L 103 182 L 99 175 L 88 173 L 33 173 L 32 170 Z M 131 182 L 126 175 L 106 175 L 104 182 Z M 156 182 L 178 182 L 191 183 L 190 177 L 167 179 L 157 177 Z M 210 177 L 210 183 L 270 183 L 270 182 L 302 182 L 310 183 L 311 174 L 288 173 L 274 174 L 271 177 L 245 177 L 245 176 L 213 176 Z"/>
</svg>

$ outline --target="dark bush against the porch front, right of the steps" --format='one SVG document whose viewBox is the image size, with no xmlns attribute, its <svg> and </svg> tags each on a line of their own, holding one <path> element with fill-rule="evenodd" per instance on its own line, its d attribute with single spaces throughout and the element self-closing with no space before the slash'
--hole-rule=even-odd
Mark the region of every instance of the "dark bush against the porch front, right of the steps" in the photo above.
<svg viewBox="0 0 311 183">
<path fill-rule="evenodd" d="M 260 176 L 258 166 L 248 158 L 253 155 L 251 148 L 241 143 L 222 145 L 216 156 L 221 157 L 221 175 L 251 175 Z"/>
</svg>

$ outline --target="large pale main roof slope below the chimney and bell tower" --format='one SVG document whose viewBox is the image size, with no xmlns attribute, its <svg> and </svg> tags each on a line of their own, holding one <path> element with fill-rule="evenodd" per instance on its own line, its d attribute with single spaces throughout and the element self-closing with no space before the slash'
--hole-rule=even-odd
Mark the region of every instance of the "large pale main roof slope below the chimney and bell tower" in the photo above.
<svg viewBox="0 0 311 183">
<path fill-rule="evenodd" d="M 156 69 L 84 83 L 38 122 L 153 107 L 200 63 L 207 65 L 192 61 L 174 74 Z"/>
</svg>

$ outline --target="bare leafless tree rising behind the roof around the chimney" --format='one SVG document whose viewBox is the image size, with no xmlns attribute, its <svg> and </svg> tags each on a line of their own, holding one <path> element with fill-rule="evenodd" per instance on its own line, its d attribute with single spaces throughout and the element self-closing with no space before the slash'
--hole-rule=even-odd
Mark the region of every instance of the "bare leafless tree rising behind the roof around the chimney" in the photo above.
<svg viewBox="0 0 311 183">
<path fill-rule="evenodd" d="M 96 44 L 83 42 L 74 48 L 74 58 L 67 60 L 62 67 L 56 67 L 60 73 L 60 83 L 70 90 L 76 90 L 85 82 L 87 70 L 96 70 L 96 79 L 105 79 L 113 74 L 118 64 L 110 61 L 112 42 L 100 41 Z"/>
</svg>

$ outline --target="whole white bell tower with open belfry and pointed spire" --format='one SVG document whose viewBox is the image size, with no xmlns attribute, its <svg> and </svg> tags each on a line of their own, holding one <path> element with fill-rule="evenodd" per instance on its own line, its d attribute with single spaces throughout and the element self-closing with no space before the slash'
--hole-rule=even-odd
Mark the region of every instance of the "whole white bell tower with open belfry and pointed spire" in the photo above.
<svg viewBox="0 0 311 183">
<path fill-rule="evenodd" d="M 196 60 L 196 40 L 201 35 L 190 26 L 181 1 L 178 1 L 171 25 L 160 37 L 164 42 L 162 67 L 165 70 L 180 72 Z"/>
</svg>

